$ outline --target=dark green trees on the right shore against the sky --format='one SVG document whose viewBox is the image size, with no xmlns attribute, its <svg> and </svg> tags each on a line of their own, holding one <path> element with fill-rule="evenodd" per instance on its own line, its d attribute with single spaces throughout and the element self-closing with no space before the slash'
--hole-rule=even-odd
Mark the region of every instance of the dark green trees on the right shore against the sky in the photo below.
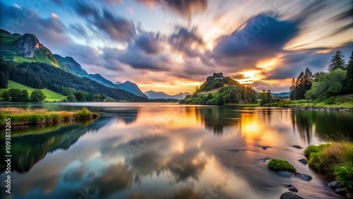
<svg viewBox="0 0 353 199">
<path fill-rule="evenodd" d="M 337 51 L 328 66 L 328 72 L 312 74 L 309 68 L 301 72 L 289 87 L 291 100 L 326 100 L 335 95 L 353 93 L 353 52 L 346 62 Z"/>
</svg>

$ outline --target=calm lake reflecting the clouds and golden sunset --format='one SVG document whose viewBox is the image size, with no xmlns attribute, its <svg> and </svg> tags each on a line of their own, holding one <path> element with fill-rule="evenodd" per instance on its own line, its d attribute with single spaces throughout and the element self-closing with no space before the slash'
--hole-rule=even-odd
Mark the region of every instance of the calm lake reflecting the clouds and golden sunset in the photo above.
<svg viewBox="0 0 353 199">
<path fill-rule="evenodd" d="M 100 118 L 12 128 L 11 194 L 1 191 L 1 198 L 280 198 L 288 184 L 304 198 L 340 198 L 327 186 L 330 179 L 298 160 L 308 145 L 353 137 L 353 112 L 172 103 L 16 106 L 88 107 Z M 267 168 L 273 158 L 313 179 L 277 175 Z M 3 166 L 1 190 L 5 178 Z"/>
</svg>

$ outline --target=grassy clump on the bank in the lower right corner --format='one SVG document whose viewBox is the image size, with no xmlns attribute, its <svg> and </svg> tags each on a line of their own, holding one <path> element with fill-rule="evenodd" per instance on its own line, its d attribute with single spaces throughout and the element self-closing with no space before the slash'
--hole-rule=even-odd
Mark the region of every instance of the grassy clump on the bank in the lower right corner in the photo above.
<svg viewBox="0 0 353 199">
<path fill-rule="evenodd" d="M 310 145 L 304 151 L 309 166 L 316 171 L 342 182 L 353 191 L 353 143 L 349 140 L 323 145 Z"/>
</svg>

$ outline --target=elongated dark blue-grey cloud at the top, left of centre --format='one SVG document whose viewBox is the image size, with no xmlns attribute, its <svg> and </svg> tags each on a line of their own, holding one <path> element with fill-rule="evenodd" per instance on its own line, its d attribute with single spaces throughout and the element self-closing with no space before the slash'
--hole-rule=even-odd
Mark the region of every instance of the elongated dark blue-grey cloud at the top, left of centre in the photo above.
<svg viewBox="0 0 353 199">
<path fill-rule="evenodd" d="M 136 36 L 135 25 L 132 21 L 114 16 L 106 9 L 100 13 L 93 6 L 83 3 L 78 3 L 75 9 L 79 16 L 85 17 L 88 23 L 105 32 L 112 40 L 130 42 Z"/>
</svg>

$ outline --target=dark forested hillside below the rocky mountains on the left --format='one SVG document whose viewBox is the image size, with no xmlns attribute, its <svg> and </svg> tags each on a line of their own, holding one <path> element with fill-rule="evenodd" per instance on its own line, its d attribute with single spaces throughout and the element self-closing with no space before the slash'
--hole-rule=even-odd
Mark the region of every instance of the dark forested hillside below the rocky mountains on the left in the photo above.
<svg viewBox="0 0 353 199">
<path fill-rule="evenodd" d="M 61 95 L 73 95 L 76 91 L 82 91 L 83 100 L 92 101 L 94 95 L 105 95 L 114 100 L 126 100 L 128 102 L 145 102 L 144 97 L 138 97 L 114 88 L 108 88 L 89 78 L 80 78 L 71 73 L 48 64 L 23 63 L 15 66 L 11 61 L 0 60 L 1 88 L 6 88 L 7 80 L 13 80 L 31 88 L 47 88 Z"/>
</svg>

